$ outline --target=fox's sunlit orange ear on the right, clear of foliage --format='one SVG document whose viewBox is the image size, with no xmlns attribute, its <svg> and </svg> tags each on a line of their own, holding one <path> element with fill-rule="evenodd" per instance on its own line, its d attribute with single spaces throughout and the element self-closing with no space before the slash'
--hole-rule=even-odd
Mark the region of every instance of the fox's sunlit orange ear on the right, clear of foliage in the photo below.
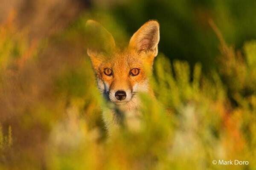
<svg viewBox="0 0 256 170">
<path fill-rule="evenodd" d="M 129 47 L 135 48 L 138 52 L 153 52 L 154 57 L 158 53 L 158 42 L 160 40 L 159 23 L 155 20 L 146 22 L 133 34 Z"/>
</svg>

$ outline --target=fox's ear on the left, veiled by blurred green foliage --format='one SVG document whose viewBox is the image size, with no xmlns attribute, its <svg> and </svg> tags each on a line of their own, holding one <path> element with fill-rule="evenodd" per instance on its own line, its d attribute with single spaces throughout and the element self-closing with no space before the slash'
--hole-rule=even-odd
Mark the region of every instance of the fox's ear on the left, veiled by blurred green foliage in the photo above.
<svg viewBox="0 0 256 170">
<path fill-rule="evenodd" d="M 114 50 L 115 40 L 102 25 L 94 20 L 86 22 L 86 38 L 87 55 L 90 57 L 93 67 L 97 68 L 103 56 Z"/>
</svg>

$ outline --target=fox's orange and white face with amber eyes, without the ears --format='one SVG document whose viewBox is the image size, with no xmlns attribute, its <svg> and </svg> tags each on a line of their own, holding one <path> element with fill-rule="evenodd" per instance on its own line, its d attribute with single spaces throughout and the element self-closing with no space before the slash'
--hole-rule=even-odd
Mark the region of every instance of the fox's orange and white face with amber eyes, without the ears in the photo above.
<svg viewBox="0 0 256 170">
<path fill-rule="evenodd" d="M 129 51 L 115 52 L 103 60 L 97 69 L 99 90 L 111 102 L 130 102 L 137 92 L 148 91 L 148 77 L 143 57 Z"/>
</svg>

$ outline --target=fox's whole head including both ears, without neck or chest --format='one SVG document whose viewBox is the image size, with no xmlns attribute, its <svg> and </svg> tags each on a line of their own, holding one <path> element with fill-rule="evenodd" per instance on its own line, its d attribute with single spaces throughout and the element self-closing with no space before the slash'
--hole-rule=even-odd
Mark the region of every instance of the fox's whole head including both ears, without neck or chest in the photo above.
<svg viewBox="0 0 256 170">
<path fill-rule="evenodd" d="M 117 48 L 112 35 L 96 21 L 88 20 L 86 26 L 91 37 L 87 54 L 101 93 L 122 105 L 134 102 L 137 92 L 148 92 L 148 77 L 160 40 L 158 22 L 146 22 L 124 49 Z"/>
</svg>

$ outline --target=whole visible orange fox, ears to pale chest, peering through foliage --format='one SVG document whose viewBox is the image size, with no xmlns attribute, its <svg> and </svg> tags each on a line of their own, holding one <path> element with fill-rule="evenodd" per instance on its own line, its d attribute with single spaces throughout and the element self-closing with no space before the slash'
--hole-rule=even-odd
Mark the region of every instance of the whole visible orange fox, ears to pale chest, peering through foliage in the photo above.
<svg viewBox="0 0 256 170">
<path fill-rule="evenodd" d="M 155 99 L 149 78 L 153 73 L 154 58 L 158 54 L 160 25 L 156 20 L 143 24 L 124 48 L 100 23 L 87 20 L 90 43 L 87 55 L 96 75 L 99 92 L 108 102 L 102 107 L 102 118 L 111 136 L 120 125 L 140 128 L 140 97 L 149 94 Z"/>
</svg>

